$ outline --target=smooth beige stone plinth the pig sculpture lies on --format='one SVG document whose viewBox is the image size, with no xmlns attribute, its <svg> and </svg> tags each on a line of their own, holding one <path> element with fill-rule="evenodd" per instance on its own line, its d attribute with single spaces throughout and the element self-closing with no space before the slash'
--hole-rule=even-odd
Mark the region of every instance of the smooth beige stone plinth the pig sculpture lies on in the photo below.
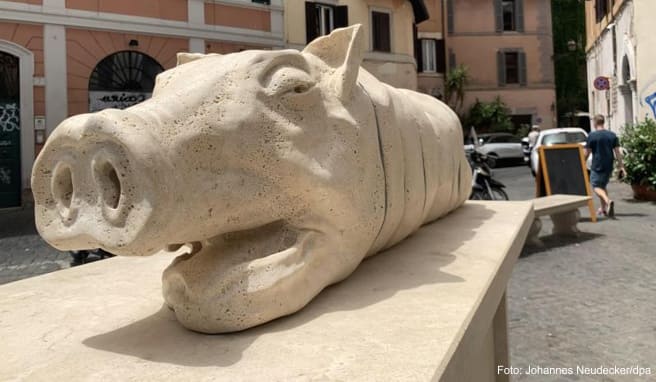
<svg viewBox="0 0 656 382">
<path fill-rule="evenodd" d="M 299 313 L 227 335 L 190 332 L 163 306 L 169 255 L 9 283 L 0 380 L 494 380 L 481 349 L 504 357 L 496 313 L 532 220 L 530 202 L 468 202 Z"/>
</svg>

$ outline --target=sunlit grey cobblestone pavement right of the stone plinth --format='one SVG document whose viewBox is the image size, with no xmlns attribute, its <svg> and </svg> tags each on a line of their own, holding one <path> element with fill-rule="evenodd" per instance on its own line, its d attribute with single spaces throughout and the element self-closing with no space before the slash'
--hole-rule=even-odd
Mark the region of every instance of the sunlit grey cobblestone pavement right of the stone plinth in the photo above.
<svg viewBox="0 0 656 382">
<path fill-rule="evenodd" d="M 514 200 L 534 195 L 525 167 L 500 169 Z M 578 239 L 547 237 L 524 248 L 508 288 L 511 364 L 573 368 L 649 367 L 651 376 L 517 375 L 514 381 L 656 380 L 656 203 L 636 202 L 612 183 L 617 218 L 591 223 Z M 598 203 L 595 200 L 596 203 Z M 543 235 L 551 229 L 542 219 Z"/>
</svg>

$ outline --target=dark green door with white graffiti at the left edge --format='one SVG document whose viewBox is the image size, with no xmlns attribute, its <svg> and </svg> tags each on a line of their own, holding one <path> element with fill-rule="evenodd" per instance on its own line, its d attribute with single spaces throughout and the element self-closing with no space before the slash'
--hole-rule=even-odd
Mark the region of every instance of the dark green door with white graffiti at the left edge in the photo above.
<svg viewBox="0 0 656 382">
<path fill-rule="evenodd" d="M 0 208 L 21 204 L 18 57 L 0 52 Z"/>
</svg>

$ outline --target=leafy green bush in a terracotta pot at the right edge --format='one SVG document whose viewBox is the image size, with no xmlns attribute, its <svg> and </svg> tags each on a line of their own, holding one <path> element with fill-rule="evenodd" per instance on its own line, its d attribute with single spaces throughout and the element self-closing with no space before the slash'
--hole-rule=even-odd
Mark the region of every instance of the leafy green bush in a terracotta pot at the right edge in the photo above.
<svg viewBox="0 0 656 382">
<path fill-rule="evenodd" d="M 626 150 L 624 181 L 636 199 L 656 201 L 656 122 L 646 119 L 626 126 L 622 146 Z"/>
</svg>

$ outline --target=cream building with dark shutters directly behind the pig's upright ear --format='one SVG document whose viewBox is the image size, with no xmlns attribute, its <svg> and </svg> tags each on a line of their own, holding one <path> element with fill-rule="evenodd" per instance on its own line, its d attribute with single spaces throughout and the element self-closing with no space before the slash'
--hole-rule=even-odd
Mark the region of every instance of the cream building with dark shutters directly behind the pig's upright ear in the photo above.
<svg viewBox="0 0 656 382">
<path fill-rule="evenodd" d="M 363 67 L 381 81 L 415 90 L 415 24 L 427 18 L 419 0 L 285 0 L 285 43 L 302 50 L 333 29 L 362 24 L 369 38 Z"/>
</svg>

